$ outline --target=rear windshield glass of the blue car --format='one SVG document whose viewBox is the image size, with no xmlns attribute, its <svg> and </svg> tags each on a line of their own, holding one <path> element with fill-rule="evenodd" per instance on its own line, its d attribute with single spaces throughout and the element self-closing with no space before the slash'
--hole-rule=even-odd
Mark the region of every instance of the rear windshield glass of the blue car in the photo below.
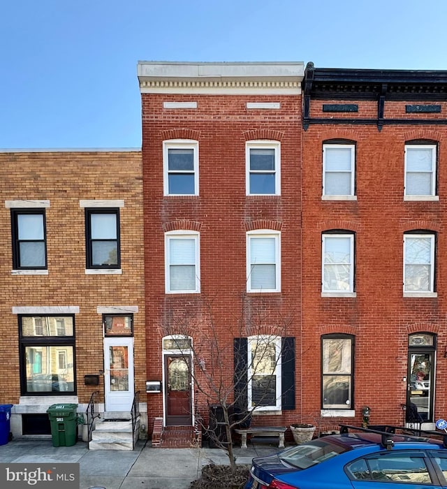
<svg viewBox="0 0 447 489">
<path fill-rule="evenodd" d="M 317 439 L 288 448 L 279 453 L 279 458 L 298 469 L 307 469 L 349 449 L 349 446 L 339 446 L 324 439 Z"/>
</svg>

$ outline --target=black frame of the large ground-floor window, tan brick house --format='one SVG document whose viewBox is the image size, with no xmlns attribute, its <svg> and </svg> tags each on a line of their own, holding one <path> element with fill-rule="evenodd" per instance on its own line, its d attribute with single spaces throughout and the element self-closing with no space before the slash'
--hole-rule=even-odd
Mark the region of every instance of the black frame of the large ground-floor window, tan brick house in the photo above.
<svg viewBox="0 0 447 489">
<path fill-rule="evenodd" d="M 73 335 L 66 336 L 24 336 L 22 335 L 22 318 L 24 317 L 71 317 L 73 318 Z M 19 314 L 17 316 L 19 329 L 19 369 L 20 369 L 20 393 L 24 396 L 48 396 L 48 395 L 76 395 L 76 342 L 75 342 L 75 315 L 74 314 Z M 27 390 L 27 356 L 26 350 L 30 347 L 68 346 L 73 349 L 73 391 L 28 391 Z M 59 362 L 59 358 L 56 360 Z"/>
</svg>

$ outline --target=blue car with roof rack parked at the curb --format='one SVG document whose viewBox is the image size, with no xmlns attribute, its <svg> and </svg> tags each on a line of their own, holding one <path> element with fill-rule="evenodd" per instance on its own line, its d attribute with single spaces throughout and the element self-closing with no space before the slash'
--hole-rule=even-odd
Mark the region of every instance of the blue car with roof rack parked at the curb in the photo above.
<svg viewBox="0 0 447 489">
<path fill-rule="evenodd" d="M 346 425 L 340 432 L 254 458 L 245 489 L 447 489 L 443 432 Z"/>
</svg>

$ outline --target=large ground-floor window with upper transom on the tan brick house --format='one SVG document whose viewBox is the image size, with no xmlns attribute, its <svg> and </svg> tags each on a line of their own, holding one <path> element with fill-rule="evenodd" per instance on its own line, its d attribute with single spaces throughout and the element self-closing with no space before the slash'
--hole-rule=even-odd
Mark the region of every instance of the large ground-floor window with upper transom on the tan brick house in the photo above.
<svg viewBox="0 0 447 489">
<path fill-rule="evenodd" d="M 19 316 L 23 395 L 75 393 L 73 316 Z"/>
</svg>

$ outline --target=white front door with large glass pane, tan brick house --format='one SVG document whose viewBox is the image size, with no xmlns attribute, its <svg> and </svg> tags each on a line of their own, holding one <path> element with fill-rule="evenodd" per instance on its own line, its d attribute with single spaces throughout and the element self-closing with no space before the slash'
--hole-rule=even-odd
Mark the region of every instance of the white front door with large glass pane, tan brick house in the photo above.
<svg viewBox="0 0 447 489">
<path fill-rule="evenodd" d="M 133 338 L 104 338 L 105 411 L 131 411 Z"/>
</svg>

